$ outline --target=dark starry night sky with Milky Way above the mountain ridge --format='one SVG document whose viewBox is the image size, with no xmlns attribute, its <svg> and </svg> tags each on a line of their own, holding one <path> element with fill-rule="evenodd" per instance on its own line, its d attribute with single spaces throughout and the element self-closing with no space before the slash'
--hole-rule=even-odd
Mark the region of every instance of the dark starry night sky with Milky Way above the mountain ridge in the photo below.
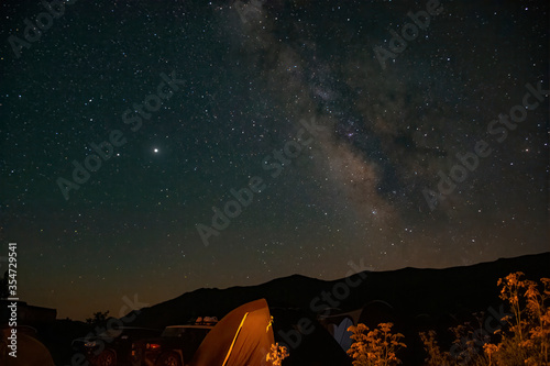
<svg viewBox="0 0 550 366">
<path fill-rule="evenodd" d="M 0 11 L 0 269 L 58 318 L 549 249 L 546 1 Z"/>
</svg>

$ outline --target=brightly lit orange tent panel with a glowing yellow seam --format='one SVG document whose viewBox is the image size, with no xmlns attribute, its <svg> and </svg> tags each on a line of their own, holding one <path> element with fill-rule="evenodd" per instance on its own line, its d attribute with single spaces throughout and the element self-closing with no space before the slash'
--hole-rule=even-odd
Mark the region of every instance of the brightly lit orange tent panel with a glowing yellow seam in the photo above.
<svg viewBox="0 0 550 366">
<path fill-rule="evenodd" d="M 234 309 L 216 324 L 195 353 L 191 365 L 268 365 L 265 356 L 274 343 L 267 301 L 255 300 Z"/>
</svg>

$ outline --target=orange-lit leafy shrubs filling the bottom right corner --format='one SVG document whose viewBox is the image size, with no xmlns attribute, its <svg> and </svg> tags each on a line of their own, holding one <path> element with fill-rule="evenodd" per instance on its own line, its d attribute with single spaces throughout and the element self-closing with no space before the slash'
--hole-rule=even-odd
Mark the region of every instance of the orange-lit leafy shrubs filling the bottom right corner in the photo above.
<svg viewBox="0 0 550 366">
<path fill-rule="evenodd" d="M 453 348 L 459 352 L 441 352 L 436 332 L 420 333 L 420 339 L 428 353 L 426 364 L 475 365 L 475 366 L 550 366 L 550 279 L 541 278 L 542 288 L 537 282 L 524 279 L 520 271 L 509 274 L 497 281 L 501 286 L 501 299 L 508 302 L 512 315 L 498 319 L 505 326 L 495 332 L 496 341 L 490 343 L 487 336 L 476 334 L 469 324 L 451 328 L 455 335 Z M 477 332 L 479 333 L 479 332 Z M 486 333 L 486 332 L 485 332 Z M 482 332 L 483 334 L 483 332 Z M 464 342 L 464 340 L 469 340 Z M 479 352 L 483 345 L 483 352 Z"/>
</svg>

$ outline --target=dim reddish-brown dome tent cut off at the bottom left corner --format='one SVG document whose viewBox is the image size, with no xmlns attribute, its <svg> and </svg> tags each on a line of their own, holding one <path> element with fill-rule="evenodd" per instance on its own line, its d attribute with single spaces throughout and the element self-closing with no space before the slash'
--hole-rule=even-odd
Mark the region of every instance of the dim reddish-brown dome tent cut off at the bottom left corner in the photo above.
<svg viewBox="0 0 550 366">
<path fill-rule="evenodd" d="M 11 330 L 0 331 L 0 365 L 2 366 L 55 366 L 47 348 L 31 335 L 18 332 L 18 357 L 9 355 Z"/>
</svg>

